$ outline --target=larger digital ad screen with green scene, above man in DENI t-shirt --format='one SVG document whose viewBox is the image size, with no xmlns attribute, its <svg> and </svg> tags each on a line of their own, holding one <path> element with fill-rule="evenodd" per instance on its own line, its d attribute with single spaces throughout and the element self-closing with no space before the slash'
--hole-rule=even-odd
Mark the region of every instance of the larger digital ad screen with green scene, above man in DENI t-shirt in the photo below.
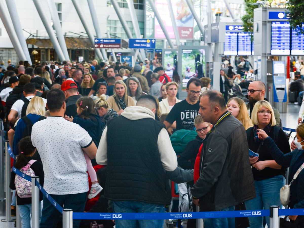
<svg viewBox="0 0 304 228">
<path fill-rule="evenodd" d="M 202 78 L 205 75 L 205 49 L 182 49 L 181 77 L 182 90 L 186 90 L 190 78 Z"/>
</svg>

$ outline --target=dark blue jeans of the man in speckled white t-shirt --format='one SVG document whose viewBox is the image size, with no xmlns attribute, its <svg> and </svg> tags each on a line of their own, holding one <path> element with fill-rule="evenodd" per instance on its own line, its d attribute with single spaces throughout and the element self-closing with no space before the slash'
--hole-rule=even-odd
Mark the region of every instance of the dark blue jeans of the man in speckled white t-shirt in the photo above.
<svg viewBox="0 0 304 228">
<path fill-rule="evenodd" d="M 83 212 L 87 200 L 87 192 L 70 195 L 51 195 L 50 196 L 63 208 L 72 209 L 73 212 Z M 54 228 L 60 220 L 60 212 L 43 195 L 43 209 L 40 228 Z M 78 228 L 81 219 L 73 219 L 73 228 Z"/>
</svg>

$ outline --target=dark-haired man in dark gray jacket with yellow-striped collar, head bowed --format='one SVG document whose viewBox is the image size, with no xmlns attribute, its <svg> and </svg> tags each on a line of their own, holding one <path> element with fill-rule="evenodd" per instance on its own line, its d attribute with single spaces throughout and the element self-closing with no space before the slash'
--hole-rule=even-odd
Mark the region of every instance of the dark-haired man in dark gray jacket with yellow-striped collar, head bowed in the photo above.
<svg viewBox="0 0 304 228">
<path fill-rule="evenodd" d="M 213 127 L 203 140 L 200 177 L 191 189 L 200 211 L 228 211 L 256 197 L 246 131 L 226 110 L 223 95 L 208 90 L 199 98 L 199 114 Z M 234 218 L 204 219 L 206 227 L 234 227 Z"/>
</svg>

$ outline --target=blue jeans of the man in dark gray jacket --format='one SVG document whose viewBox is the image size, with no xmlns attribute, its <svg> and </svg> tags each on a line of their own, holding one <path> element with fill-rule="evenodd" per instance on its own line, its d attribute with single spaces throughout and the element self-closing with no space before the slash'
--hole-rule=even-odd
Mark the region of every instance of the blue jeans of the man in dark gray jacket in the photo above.
<svg viewBox="0 0 304 228">
<path fill-rule="evenodd" d="M 226 207 L 219 211 L 234 211 L 235 206 Z M 203 219 L 206 228 L 235 228 L 235 218 Z"/>
</svg>

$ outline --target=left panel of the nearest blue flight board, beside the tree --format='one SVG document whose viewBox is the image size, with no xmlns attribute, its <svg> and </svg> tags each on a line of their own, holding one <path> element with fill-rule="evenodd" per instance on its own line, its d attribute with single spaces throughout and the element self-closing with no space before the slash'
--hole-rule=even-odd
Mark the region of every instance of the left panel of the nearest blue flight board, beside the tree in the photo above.
<svg viewBox="0 0 304 228">
<path fill-rule="evenodd" d="M 271 54 L 290 54 L 290 24 L 289 22 L 271 22 Z"/>
</svg>

